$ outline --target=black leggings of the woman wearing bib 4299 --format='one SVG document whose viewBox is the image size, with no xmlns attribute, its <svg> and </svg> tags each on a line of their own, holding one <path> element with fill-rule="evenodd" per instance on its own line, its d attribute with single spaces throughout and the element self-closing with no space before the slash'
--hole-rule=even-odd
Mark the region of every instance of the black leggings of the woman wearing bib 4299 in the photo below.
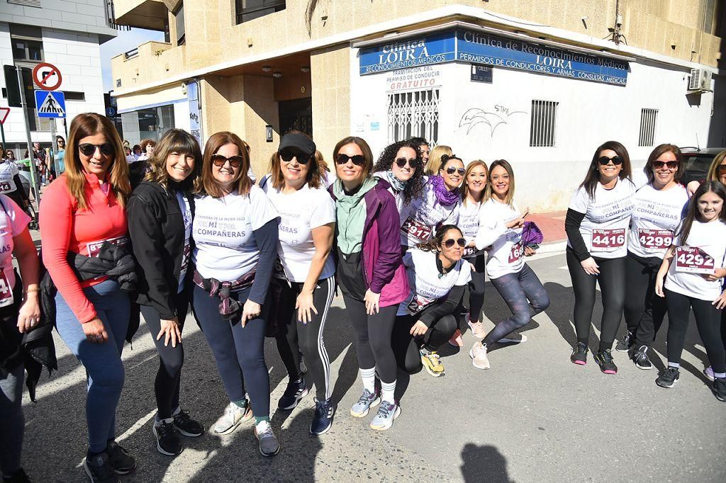
<svg viewBox="0 0 726 483">
<path fill-rule="evenodd" d="M 658 257 L 643 258 L 630 252 L 625 259 L 624 315 L 628 331 L 635 334 L 636 349 L 653 344 L 666 316 L 666 300 L 656 295 L 656 275 L 661 262 Z"/>
</svg>

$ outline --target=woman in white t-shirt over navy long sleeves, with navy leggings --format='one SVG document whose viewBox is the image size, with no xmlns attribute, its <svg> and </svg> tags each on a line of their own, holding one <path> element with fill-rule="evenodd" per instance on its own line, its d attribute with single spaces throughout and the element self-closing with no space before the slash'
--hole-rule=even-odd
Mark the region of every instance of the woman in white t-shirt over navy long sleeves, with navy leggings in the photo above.
<svg viewBox="0 0 726 483">
<path fill-rule="evenodd" d="M 192 305 L 230 401 L 214 431 L 229 434 L 252 417 L 247 384 L 260 453 L 273 456 L 280 443 L 269 423 L 263 344 L 278 215 L 264 191 L 248 178 L 249 166 L 239 136 L 226 131 L 210 136 L 192 222 Z"/>
</svg>

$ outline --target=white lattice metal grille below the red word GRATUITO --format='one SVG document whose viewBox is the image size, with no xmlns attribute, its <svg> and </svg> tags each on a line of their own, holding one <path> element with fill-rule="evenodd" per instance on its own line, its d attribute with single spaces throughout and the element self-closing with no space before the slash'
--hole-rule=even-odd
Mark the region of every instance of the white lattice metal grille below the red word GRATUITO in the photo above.
<svg viewBox="0 0 726 483">
<path fill-rule="evenodd" d="M 439 141 L 439 89 L 388 94 L 388 142 L 422 137 Z"/>
</svg>

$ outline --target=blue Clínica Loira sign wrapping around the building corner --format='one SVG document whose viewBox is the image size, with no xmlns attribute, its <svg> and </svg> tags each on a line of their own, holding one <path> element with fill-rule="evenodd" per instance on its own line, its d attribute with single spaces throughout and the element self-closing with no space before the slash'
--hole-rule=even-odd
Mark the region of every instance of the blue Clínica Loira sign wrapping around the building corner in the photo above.
<svg viewBox="0 0 726 483">
<path fill-rule="evenodd" d="M 361 49 L 360 75 L 455 60 L 619 86 L 628 77 L 621 60 L 464 29 Z"/>
</svg>

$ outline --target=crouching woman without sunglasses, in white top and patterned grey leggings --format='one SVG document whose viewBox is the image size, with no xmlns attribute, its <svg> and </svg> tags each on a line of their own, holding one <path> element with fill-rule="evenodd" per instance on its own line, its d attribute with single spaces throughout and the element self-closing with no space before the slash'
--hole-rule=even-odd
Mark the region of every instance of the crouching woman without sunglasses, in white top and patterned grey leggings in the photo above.
<svg viewBox="0 0 726 483">
<path fill-rule="evenodd" d="M 489 369 L 487 352 L 492 344 L 526 342 L 526 336 L 515 330 L 526 326 L 534 315 L 550 306 L 550 295 L 534 271 L 524 263 L 524 257 L 536 252 L 523 246 L 524 220 L 529 208 L 519 211 L 514 202 L 514 187 L 514 170 L 509 162 L 492 162 L 475 244 L 478 250 L 489 247 L 486 273 L 512 315 L 497 323 L 484 340 L 474 343 L 469 356 L 478 369 Z"/>
</svg>

